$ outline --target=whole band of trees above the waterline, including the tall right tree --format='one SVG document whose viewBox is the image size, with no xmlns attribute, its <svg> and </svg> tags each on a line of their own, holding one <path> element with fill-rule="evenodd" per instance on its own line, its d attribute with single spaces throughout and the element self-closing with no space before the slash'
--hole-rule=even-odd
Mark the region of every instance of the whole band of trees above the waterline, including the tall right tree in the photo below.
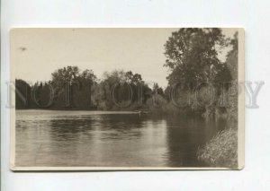
<svg viewBox="0 0 270 191">
<path fill-rule="evenodd" d="M 221 62 L 218 51 L 228 47 L 227 59 Z M 221 95 L 229 92 L 229 86 L 222 89 L 221 84 L 238 78 L 237 33 L 226 39 L 220 29 L 180 29 L 167 39 L 165 56 L 164 66 L 170 71 L 165 90 L 131 71 L 105 73 L 101 80 L 92 70 L 67 66 L 53 72 L 49 82 L 29 84 L 17 79 L 16 109 L 148 110 L 204 117 L 237 114 L 237 96 L 228 97 L 231 104 L 220 107 Z"/>
</svg>

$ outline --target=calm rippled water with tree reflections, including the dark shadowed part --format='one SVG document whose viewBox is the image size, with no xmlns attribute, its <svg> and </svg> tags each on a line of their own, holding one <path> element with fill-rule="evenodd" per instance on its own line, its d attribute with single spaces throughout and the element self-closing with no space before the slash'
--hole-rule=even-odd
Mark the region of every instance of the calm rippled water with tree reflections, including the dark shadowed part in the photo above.
<svg viewBox="0 0 270 191">
<path fill-rule="evenodd" d="M 226 126 L 131 112 L 16 110 L 17 166 L 195 167 Z"/>
</svg>

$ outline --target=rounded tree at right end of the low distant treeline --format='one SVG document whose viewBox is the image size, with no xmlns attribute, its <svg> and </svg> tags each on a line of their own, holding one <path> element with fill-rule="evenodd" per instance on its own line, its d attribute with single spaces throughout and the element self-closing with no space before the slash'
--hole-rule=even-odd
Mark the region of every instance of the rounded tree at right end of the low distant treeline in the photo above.
<svg viewBox="0 0 270 191">
<path fill-rule="evenodd" d="M 139 96 L 142 96 L 142 103 L 150 97 L 150 93 L 143 96 L 139 95 L 139 91 L 151 91 L 140 74 L 115 70 L 103 74 L 103 81 L 98 85 L 97 101 L 100 109 L 120 109 L 121 103 L 121 109 L 138 109 Z M 119 103 L 118 108 L 115 102 Z"/>
</svg>

